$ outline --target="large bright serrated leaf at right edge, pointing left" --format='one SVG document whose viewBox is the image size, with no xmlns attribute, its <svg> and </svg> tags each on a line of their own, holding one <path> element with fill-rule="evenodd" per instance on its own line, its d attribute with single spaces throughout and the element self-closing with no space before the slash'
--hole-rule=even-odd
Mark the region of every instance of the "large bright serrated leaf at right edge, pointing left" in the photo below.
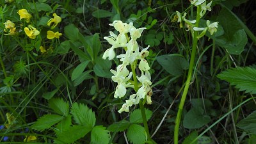
<svg viewBox="0 0 256 144">
<path fill-rule="evenodd" d="M 256 93 L 256 69 L 251 67 L 231 68 L 218 74 L 222 80 L 227 81 L 231 85 L 235 85 L 240 91 L 245 90 L 246 93 Z"/>
</svg>

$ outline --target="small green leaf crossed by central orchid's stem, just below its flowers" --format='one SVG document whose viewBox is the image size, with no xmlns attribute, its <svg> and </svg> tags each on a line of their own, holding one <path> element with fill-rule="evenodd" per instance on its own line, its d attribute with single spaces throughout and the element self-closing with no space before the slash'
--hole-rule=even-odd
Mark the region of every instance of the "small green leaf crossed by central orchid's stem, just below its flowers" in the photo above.
<svg viewBox="0 0 256 144">
<path fill-rule="evenodd" d="M 145 109 L 145 113 L 147 120 L 149 120 L 152 116 L 152 111 L 150 111 L 149 109 Z M 135 124 L 140 124 L 143 122 L 140 109 L 135 109 L 134 111 L 132 111 L 130 115 L 130 122 Z"/>
</svg>

